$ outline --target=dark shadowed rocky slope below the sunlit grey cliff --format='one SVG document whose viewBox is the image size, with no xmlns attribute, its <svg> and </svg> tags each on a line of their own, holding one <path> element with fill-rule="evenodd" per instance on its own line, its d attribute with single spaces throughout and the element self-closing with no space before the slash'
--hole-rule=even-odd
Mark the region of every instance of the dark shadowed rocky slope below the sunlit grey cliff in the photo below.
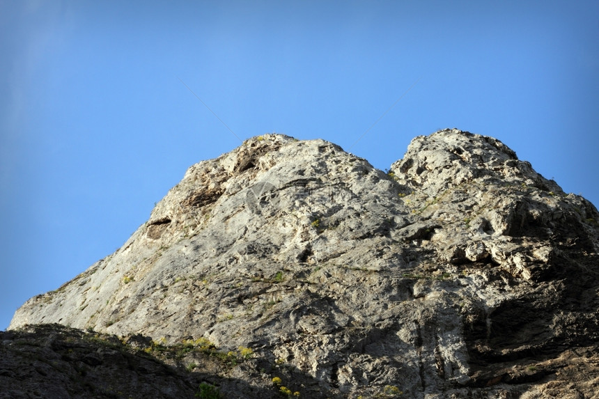
<svg viewBox="0 0 599 399">
<path fill-rule="evenodd" d="M 255 361 L 205 345 L 166 347 L 61 324 L 0 331 L 0 341 L 0 398 L 208 399 L 220 390 L 228 398 L 280 397 L 272 382 L 260 388 L 245 381 L 261 379 Z M 233 368 L 245 380 L 224 377 Z"/>
</svg>

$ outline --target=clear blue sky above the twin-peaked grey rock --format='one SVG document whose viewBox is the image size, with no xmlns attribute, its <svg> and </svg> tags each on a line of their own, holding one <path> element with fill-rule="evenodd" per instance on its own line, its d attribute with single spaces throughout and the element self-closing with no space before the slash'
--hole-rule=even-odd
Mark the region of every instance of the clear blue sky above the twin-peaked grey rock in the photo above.
<svg viewBox="0 0 599 399">
<path fill-rule="evenodd" d="M 241 139 L 385 169 L 458 127 L 599 203 L 596 0 L 0 0 L 0 54 L 0 329 L 240 144 L 179 79 Z"/>
</svg>

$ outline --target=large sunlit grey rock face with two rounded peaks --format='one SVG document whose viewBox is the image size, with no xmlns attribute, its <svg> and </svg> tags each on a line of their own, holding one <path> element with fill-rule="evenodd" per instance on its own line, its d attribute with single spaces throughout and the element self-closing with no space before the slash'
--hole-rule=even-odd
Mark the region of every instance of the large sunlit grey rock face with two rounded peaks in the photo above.
<svg viewBox="0 0 599 399">
<path fill-rule="evenodd" d="M 419 136 L 383 173 L 265 134 L 189 168 L 122 248 L 9 329 L 249 347 L 308 398 L 591 398 L 598 221 L 491 137 Z"/>
</svg>

